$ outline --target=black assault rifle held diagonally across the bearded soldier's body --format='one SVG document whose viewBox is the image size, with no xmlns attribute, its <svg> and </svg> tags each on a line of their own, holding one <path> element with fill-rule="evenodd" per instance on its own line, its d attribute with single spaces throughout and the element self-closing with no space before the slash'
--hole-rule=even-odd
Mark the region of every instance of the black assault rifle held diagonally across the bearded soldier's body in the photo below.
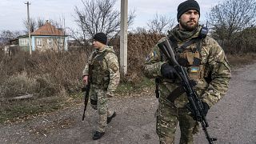
<svg viewBox="0 0 256 144">
<path fill-rule="evenodd" d="M 217 141 L 217 138 L 210 138 L 208 134 L 207 127 L 208 122 L 206 121 L 206 116 L 203 113 L 203 106 L 201 100 L 198 98 L 198 94 L 194 91 L 192 86 L 195 86 L 194 81 L 190 81 L 186 68 L 180 66 L 175 59 L 174 51 L 172 50 L 168 40 L 158 44 L 158 47 L 162 53 L 168 58 L 169 62 L 174 66 L 174 69 L 177 71 L 178 78 L 181 80 L 182 89 L 186 92 L 186 97 L 189 101 L 190 107 L 188 107 L 194 116 L 195 120 L 201 123 L 202 130 L 206 134 L 206 138 L 210 144 L 213 144 L 213 141 Z"/>
</svg>

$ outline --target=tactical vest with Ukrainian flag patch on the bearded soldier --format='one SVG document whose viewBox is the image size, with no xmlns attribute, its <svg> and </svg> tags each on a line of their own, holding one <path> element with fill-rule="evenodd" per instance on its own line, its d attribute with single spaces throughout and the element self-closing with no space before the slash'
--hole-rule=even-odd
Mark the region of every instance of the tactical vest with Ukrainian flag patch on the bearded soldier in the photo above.
<svg viewBox="0 0 256 144">
<path fill-rule="evenodd" d="M 192 38 L 190 39 L 190 41 L 185 43 L 178 43 L 175 38 L 169 37 L 170 45 L 173 48 L 175 53 L 175 59 L 177 60 L 179 65 L 186 67 L 190 80 L 193 80 L 195 82 L 194 86 L 198 87 L 199 89 L 202 89 L 206 86 L 206 83 L 205 83 L 206 78 L 204 78 L 206 67 L 202 63 L 201 50 L 202 50 L 203 39 L 206 38 L 207 33 L 208 33 L 207 27 L 202 27 L 200 34 L 198 35 L 198 38 Z M 162 62 L 165 62 L 167 59 L 165 58 L 164 54 L 162 54 L 162 52 L 160 53 L 161 53 Z M 178 79 L 174 79 L 171 81 L 171 83 L 176 83 L 177 80 Z M 159 98 L 159 93 L 158 93 L 159 83 L 160 83 L 160 79 L 156 78 L 155 93 L 157 98 Z M 184 92 L 185 91 L 183 90 L 182 86 L 178 86 L 169 94 L 167 99 L 169 99 L 170 102 L 174 102 L 174 100 Z"/>
</svg>

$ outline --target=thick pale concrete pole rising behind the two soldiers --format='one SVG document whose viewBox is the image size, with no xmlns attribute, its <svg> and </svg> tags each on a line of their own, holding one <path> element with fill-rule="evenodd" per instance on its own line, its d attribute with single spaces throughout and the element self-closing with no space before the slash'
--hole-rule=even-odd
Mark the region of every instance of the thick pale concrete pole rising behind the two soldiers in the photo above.
<svg viewBox="0 0 256 144">
<path fill-rule="evenodd" d="M 128 0 L 121 0 L 121 23 L 120 23 L 120 69 L 127 74 L 127 19 Z"/>
</svg>

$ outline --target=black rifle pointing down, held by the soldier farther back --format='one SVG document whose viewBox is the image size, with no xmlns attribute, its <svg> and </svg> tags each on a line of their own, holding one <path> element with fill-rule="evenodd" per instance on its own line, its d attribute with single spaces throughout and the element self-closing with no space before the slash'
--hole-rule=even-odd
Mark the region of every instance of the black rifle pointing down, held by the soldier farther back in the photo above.
<svg viewBox="0 0 256 144">
<path fill-rule="evenodd" d="M 89 101 L 92 69 L 93 69 L 93 65 L 89 65 L 88 82 L 87 82 L 87 85 L 82 88 L 82 92 L 84 93 L 84 97 L 85 97 L 85 108 L 83 109 L 82 121 L 85 119 L 86 107 L 87 107 L 87 104 L 88 104 L 88 101 Z"/>
</svg>

